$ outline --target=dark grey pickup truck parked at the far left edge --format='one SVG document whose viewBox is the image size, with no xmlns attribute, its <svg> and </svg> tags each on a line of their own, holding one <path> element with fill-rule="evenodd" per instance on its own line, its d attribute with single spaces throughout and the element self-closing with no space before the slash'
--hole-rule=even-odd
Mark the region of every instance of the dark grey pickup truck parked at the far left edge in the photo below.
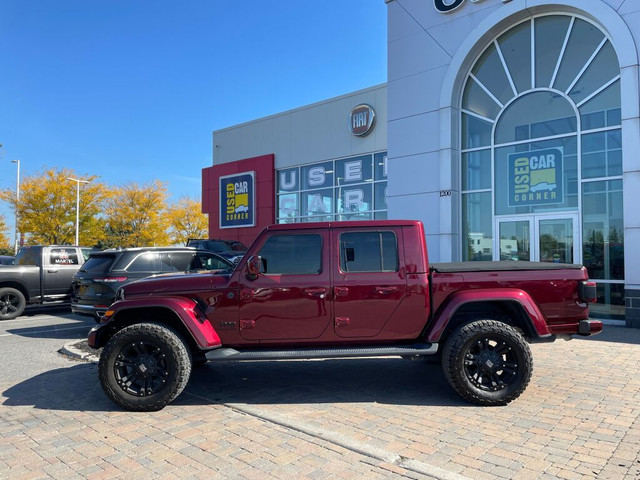
<svg viewBox="0 0 640 480">
<path fill-rule="evenodd" d="M 27 304 L 69 302 L 71 277 L 90 248 L 29 245 L 20 248 L 13 265 L 0 266 L 0 320 L 11 320 Z"/>
</svg>

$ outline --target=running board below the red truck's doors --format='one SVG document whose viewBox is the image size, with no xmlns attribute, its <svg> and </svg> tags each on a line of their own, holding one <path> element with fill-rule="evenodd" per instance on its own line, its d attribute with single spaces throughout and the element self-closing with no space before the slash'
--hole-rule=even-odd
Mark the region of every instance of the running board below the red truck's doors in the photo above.
<svg viewBox="0 0 640 480">
<path fill-rule="evenodd" d="M 349 358 L 434 355 L 437 343 L 353 348 L 296 348 L 291 350 L 236 350 L 219 348 L 205 354 L 207 360 L 295 360 L 308 358 Z"/>
</svg>

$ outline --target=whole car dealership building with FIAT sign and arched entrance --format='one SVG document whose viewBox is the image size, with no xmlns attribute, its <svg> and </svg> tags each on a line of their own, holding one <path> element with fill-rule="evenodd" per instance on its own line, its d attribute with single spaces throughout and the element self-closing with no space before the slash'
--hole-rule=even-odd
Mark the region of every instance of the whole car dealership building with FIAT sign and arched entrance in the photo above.
<svg viewBox="0 0 640 480">
<path fill-rule="evenodd" d="M 387 7 L 387 84 L 213 133 L 210 236 L 418 219 L 432 262 L 582 263 L 640 327 L 640 2 Z"/>
</svg>

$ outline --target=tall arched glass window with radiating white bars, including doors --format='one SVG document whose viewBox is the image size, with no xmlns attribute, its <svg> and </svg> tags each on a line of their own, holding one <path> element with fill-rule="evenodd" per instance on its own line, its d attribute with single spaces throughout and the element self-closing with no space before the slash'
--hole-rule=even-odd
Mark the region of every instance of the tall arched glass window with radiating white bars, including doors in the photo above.
<svg viewBox="0 0 640 480">
<path fill-rule="evenodd" d="M 602 312 L 624 313 L 620 67 L 609 38 L 578 16 L 523 21 L 478 57 L 460 112 L 462 258 L 584 263 Z"/>
</svg>

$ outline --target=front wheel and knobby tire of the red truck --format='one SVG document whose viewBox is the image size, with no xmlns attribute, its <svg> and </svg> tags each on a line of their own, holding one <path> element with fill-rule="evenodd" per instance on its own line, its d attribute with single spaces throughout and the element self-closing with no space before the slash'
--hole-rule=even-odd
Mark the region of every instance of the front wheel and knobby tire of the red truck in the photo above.
<svg viewBox="0 0 640 480">
<path fill-rule="evenodd" d="M 105 345 L 98 378 L 107 397 L 125 410 L 153 412 L 173 401 L 189 381 L 191 352 L 173 329 L 158 323 L 123 328 Z"/>
</svg>

